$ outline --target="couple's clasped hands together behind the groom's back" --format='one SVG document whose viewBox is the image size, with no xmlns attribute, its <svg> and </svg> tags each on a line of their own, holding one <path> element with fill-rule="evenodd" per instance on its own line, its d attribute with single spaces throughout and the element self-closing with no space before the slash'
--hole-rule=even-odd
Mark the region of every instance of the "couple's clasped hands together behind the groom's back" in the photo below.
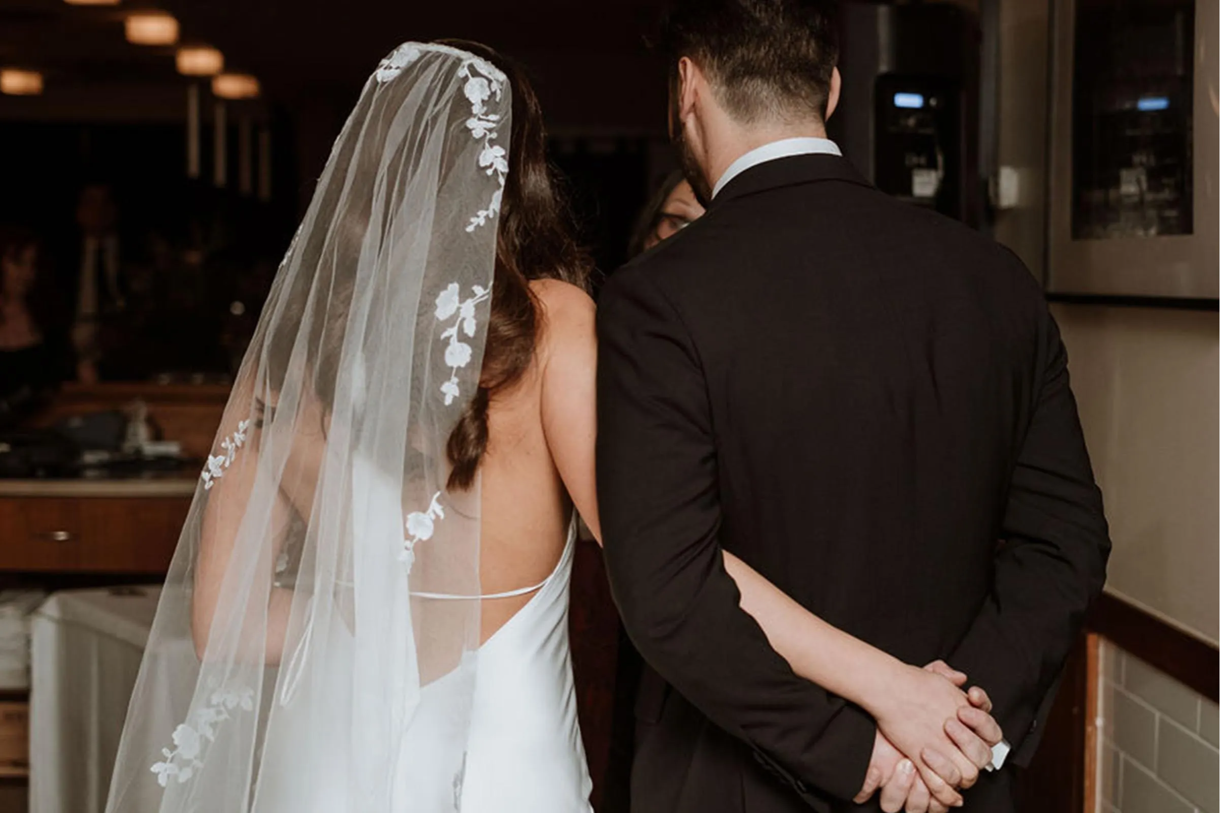
<svg viewBox="0 0 1220 813">
<path fill-rule="evenodd" d="M 880 795 L 886 813 L 944 813 L 961 807 L 958 790 L 978 781 L 1003 741 L 991 717 L 992 703 L 980 686 L 965 690 L 967 676 L 943 661 L 924 669 L 902 666 L 878 701 L 867 708 L 877 720 L 876 744 L 864 787 L 864 803 Z"/>
</svg>

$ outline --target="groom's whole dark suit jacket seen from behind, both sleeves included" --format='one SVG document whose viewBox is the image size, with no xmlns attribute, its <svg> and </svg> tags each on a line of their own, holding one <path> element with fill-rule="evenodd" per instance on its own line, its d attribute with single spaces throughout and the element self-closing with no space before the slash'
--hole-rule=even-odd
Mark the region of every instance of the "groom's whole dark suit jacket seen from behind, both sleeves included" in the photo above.
<svg viewBox="0 0 1220 813">
<path fill-rule="evenodd" d="M 849 809 L 864 783 L 872 719 L 789 670 L 721 549 L 903 661 L 969 673 L 1027 759 L 1110 544 L 1021 262 L 842 158 L 789 157 L 615 273 L 599 324 L 605 552 L 655 669 L 633 812 Z M 1010 785 L 985 776 L 966 809 L 1011 811 Z"/>
</svg>

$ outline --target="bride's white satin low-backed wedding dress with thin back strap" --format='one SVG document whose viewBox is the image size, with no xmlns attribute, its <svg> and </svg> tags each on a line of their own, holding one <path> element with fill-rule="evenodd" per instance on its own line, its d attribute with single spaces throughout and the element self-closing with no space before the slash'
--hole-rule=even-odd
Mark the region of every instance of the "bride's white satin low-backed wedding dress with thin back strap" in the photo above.
<svg viewBox="0 0 1220 813">
<path fill-rule="evenodd" d="M 460 673 L 422 687 L 420 711 L 396 761 L 395 813 L 592 812 L 567 631 L 575 547 L 573 523 L 559 563 L 542 585 L 483 596 L 494 601 L 533 592 L 477 652 L 468 733 L 445 713 L 465 697 Z M 342 686 L 350 659 L 340 656 L 351 636 L 342 624 L 334 627 L 326 668 L 334 683 L 305 686 L 273 712 L 274 734 L 262 752 L 255 813 L 361 813 L 346 802 L 353 797 L 348 754 L 327 753 L 321 745 L 342 742 L 342 733 L 353 725 L 350 706 L 342 701 L 349 696 Z M 306 741 L 310 764 L 300 759 Z M 455 748 L 465 748 L 460 776 L 444 768 L 443 754 Z M 303 770 L 325 772 L 327 779 L 303 784 Z"/>
</svg>

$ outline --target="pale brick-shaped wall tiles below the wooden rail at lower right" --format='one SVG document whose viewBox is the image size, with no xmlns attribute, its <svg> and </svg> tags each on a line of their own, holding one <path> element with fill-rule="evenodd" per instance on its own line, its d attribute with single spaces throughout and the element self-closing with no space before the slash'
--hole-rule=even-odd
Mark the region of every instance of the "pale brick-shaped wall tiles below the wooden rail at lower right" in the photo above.
<svg viewBox="0 0 1220 813">
<path fill-rule="evenodd" d="M 1098 813 L 1220 813 L 1216 705 L 1102 644 Z"/>
</svg>

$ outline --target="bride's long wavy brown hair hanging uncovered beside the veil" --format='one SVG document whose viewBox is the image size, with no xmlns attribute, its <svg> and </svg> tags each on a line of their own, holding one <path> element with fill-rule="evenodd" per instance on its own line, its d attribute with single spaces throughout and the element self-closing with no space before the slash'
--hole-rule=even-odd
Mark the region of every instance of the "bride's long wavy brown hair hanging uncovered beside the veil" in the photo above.
<svg viewBox="0 0 1220 813">
<path fill-rule="evenodd" d="M 576 239 L 555 169 L 547 161 L 542 106 L 525 71 L 486 45 L 440 40 L 493 63 L 512 87 L 509 178 L 504 186 L 495 252 L 492 317 L 478 392 L 466 405 L 447 447 L 450 489 L 468 489 L 487 452 L 487 411 L 492 399 L 521 380 L 533 361 L 539 304 L 534 279 L 561 279 L 588 286 L 590 262 Z"/>
</svg>

